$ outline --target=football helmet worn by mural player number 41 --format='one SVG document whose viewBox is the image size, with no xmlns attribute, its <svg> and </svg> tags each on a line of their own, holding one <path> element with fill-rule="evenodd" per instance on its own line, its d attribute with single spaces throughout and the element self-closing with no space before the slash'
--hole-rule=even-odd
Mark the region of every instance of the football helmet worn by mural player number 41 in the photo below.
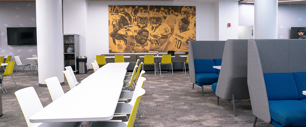
<svg viewBox="0 0 306 127">
<path fill-rule="evenodd" d="M 149 21 L 151 26 L 157 27 L 162 24 L 163 14 L 159 9 L 153 9 L 149 14 Z"/>
</svg>

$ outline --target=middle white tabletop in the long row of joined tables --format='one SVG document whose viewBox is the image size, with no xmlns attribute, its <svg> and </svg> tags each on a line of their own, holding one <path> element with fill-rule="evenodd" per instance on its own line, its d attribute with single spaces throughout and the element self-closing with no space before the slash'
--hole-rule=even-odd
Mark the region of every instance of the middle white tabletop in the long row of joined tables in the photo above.
<svg viewBox="0 0 306 127">
<path fill-rule="evenodd" d="M 93 82 L 122 82 L 126 74 L 126 69 L 99 69 L 96 72 L 92 73 L 81 83 L 93 83 Z M 112 85 L 110 83 L 110 85 Z"/>
</svg>

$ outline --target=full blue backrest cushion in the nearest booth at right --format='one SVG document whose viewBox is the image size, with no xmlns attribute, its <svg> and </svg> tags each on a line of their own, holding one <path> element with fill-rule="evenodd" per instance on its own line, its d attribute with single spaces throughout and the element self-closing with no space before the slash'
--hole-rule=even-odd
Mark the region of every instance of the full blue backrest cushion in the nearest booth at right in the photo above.
<svg viewBox="0 0 306 127">
<path fill-rule="evenodd" d="M 297 85 L 292 73 L 263 74 L 268 100 L 299 100 Z"/>
</svg>

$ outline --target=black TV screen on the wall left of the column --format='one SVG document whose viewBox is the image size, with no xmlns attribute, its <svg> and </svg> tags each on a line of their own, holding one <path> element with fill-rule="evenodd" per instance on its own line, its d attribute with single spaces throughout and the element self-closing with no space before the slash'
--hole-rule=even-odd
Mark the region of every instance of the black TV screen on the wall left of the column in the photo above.
<svg viewBox="0 0 306 127">
<path fill-rule="evenodd" d="M 7 45 L 36 45 L 36 27 L 7 27 Z"/>
</svg>

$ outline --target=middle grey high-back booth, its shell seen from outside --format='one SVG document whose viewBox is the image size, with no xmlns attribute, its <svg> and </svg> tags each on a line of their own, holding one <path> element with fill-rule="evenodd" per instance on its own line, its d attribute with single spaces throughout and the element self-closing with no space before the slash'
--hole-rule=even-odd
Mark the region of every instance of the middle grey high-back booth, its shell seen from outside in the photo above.
<svg viewBox="0 0 306 127">
<path fill-rule="evenodd" d="M 248 40 L 226 40 L 221 70 L 216 87 L 216 95 L 233 103 L 235 99 L 250 98 L 247 84 Z"/>
</svg>

